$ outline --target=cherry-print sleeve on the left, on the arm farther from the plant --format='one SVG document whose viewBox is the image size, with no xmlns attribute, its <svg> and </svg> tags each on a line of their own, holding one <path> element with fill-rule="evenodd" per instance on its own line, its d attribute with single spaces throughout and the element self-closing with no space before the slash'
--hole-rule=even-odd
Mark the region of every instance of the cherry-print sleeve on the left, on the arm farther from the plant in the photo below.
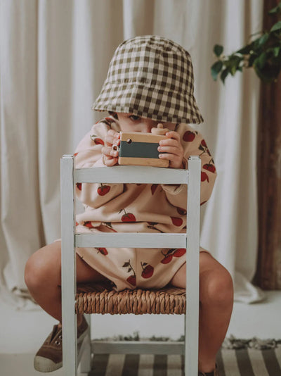
<svg viewBox="0 0 281 376">
<path fill-rule="evenodd" d="M 108 118 L 110 120 L 110 118 Z M 111 123 L 100 120 L 79 142 L 74 156 L 75 168 L 105 167 L 101 149 L 105 144 L 105 136 L 110 130 Z M 77 183 L 76 195 L 86 206 L 99 208 L 123 192 L 123 184 Z"/>
</svg>

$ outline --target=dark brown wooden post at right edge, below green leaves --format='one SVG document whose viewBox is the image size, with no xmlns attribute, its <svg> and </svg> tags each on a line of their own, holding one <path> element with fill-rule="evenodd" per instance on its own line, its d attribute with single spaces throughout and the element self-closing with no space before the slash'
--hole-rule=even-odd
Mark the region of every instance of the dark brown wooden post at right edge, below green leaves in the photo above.
<svg viewBox="0 0 281 376">
<path fill-rule="evenodd" d="M 277 18 L 268 15 L 279 0 L 263 3 L 263 30 Z M 259 254 L 254 282 L 281 289 L 281 77 L 261 83 L 258 130 Z"/>
</svg>

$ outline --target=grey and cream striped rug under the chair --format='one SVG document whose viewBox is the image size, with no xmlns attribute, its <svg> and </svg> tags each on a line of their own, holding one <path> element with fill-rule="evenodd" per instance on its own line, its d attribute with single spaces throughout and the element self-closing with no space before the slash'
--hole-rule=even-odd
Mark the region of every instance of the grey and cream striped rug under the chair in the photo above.
<svg viewBox="0 0 281 376">
<path fill-rule="evenodd" d="M 281 344 L 262 350 L 241 347 L 218 351 L 220 376 L 281 376 Z M 96 355 L 89 376 L 183 376 L 183 356 Z"/>
</svg>

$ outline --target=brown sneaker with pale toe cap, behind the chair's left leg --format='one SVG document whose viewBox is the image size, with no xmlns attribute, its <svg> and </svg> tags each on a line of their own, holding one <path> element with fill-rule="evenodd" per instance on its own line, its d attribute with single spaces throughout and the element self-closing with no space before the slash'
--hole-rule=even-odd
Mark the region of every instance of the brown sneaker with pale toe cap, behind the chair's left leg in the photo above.
<svg viewBox="0 0 281 376">
<path fill-rule="evenodd" d="M 86 337 L 89 326 L 83 316 L 83 320 L 77 327 L 77 344 Z M 80 347 L 79 346 L 79 347 Z M 78 349 L 79 349 L 78 347 Z M 58 325 L 53 326 L 53 331 L 37 351 L 34 357 L 34 368 L 39 372 L 52 372 L 63 366 L 63 331 Z"/>
</svg>

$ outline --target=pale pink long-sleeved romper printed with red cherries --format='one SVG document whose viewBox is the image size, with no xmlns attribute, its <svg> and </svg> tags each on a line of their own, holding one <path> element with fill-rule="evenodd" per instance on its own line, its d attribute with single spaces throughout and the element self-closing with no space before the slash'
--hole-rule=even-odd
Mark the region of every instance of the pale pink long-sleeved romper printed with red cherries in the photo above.
<svg viewBox="0 0 281 376">
<path fill-rule="evenodd" d="M 120 130 L 112 116 L 93 125 L 75 151 L 76 168 L 104 166 L 101 149 L 110 128 Z M 176 132 L 181 136 L 185 168 L 190 155 L 201 158 L 202 204 L 216 180 L 214 160 L 200 132 L 187 124 L 178 124 Z M 185 232 L 185 184 L 78 183 L 76 193 L 85 209 L 77 215 L 77 232 Z M 185 263 L 185 249 L 77 248 L 77 253 L 117 291 L 164 287 Z"/>
</svg>

